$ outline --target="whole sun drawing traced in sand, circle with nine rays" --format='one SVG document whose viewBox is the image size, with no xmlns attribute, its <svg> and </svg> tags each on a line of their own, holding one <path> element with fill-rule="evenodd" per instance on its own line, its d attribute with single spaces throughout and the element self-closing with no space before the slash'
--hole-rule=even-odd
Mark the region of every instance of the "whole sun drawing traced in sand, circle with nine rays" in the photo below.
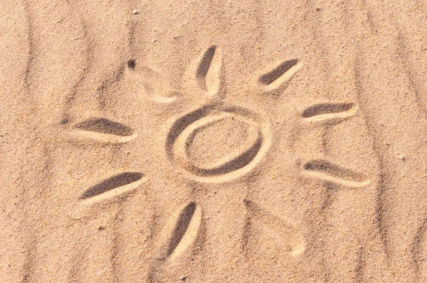
<svg viewBox="0 0 427 283">
<path fill-rule="evenodd" d="M 285 60 L 264 69 L 256 75 L 246 91 L 258 95 L 280 93 L 285 90 L 292 77 L 304 67 L 297 59 Z M 164 135 L 162 155 L 173 172 L 189 183 L 226 184 L 238 178 L 245 178 L 257 169 L 270 146 L 278 138 L 272 127 L 268 109 L 258 112 L 247 105 L 234 103 L 228 97 L 226 80 L 224 80 L 223 54 L 217 46 L 204 50 L 184 76 L 184 92 L 165 88 L 154 72 L 147 67 L 140 67 L 131 60 L 127 64 L 127 73 L 144 73 L 142 86 L 148 95 L 144 97 L 149 103 L 172 105 L 180 103 L 179 111 L 169 122 Z M 196 95 L 191 95 L 196 93 Z M 197 105 L 185 109 L 185 100 L 196 97 L 188 105 Z M 259 98 L 261 97 L 261 98 Z M 182 102 L 184 100 L 184 102 Z M 183 107 L 184 105 L 184 107 Z M 260 103 L 260 107 L 262 107 Z M 358 107 L 350 102 L 321 102 L 308 105 L 295 112 L 293 123 L 301 129 L 325 127 L 339 124 L 353 117 Z M 73 138 L 91 139 L 107 144 L 137 143 L 139 134 L 131 127 L 104 117 L 91 117 L 75 123 L 70 131 Z M 271 156 L 270 156 L 271 158 Z M 295 159 L 300 161 L 300 159 Z M 312 178 L 339 188 L 362 188 L 368 186 L 369 178 L 346 166 L 335 164 L 326 159 L 310 159 L 296 165 L 302 178 Z M 263 167 L 268 170 L 268 166 Z M 262 174 L 260 174 L 262 177 Z M 105 199 L 125 196 L 127 193 L 144 186 L 149 175 L 127 171 L 110 176 L 105 181 L 88 188 L 78 201 L 91 205 Z M 159 260 L 174 261 L 196 242 L 202 225 L 204 210 L 203 199 L 194 199 L 183 203 L 179 211 L 172 216 L 164 228 L 164 241 L 159 244 Z M 288 245 L 290 257 L 298 257 L 305 251 L 305 240 L 295 225 L 280 219 L 265 208 L 251 201 L 250 196 L 242 196 L 247 213 L 261 215 L 260 219 L 272 229 L 278 231 L 285 245 Z M 183 228 L 184 227 L 184 228 Z"/>
</svg>

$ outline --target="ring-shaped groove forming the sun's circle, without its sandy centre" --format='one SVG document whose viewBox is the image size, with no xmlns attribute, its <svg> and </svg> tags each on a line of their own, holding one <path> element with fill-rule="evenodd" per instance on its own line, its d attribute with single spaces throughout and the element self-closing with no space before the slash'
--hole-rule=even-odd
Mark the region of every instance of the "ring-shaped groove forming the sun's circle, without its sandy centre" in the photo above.
<svg viewBox="0 0 427 283">
<path fill-rule="evenodd" d="M 189 176 L 208 183 L 221 183 L 251 171 L 270 147 L 269 125 L 260 122 L 258 115 L 242 107 L 231 106 L 212 113 L 208 105 L 184 115 L 172 124 L 166 148 L 169 160 L 181 166 Z M 250 125 L 249 140 L 243 150 L 223 157 L 209 166 L 196 166 L 189 158 L 188 146 L 195 132 L 209 124 L 233 116 Z"/>
</svg>

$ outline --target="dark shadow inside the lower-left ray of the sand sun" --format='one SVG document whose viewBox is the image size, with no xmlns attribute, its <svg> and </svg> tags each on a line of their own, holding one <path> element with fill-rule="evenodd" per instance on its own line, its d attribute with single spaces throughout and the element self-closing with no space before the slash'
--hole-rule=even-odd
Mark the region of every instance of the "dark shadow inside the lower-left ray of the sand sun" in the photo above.
<svg viewBox="0 0 427 283">
<path fill-rule="evenodd" d="M 144 174 L 137 172 L 125 172 L 119 175 L 113 176 L 111 178 L 107 178 L 107 180 L 102 181 L 91 188 L 88 191 L 85 191 L 82 196 L 80 196 L 80 200 L 84 200 L 86 198 L 92 198 L 94 196 L 100 195 L 101 193 L 105 193 L 107 191 L 111 191 L 112 189 L 125 186 L 127 184 L 139 181 Z"/>
</svg>

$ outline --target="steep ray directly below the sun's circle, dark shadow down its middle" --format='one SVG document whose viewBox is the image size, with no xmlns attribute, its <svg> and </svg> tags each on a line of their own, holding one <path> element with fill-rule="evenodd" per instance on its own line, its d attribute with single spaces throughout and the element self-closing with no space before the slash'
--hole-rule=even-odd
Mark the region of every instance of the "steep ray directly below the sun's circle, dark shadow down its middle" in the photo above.
<svg viewBox="0 0 427 283">
<path fill-rule="evenodd" d="M 173 262 L 184 255 L 196 242 L 200 227 L 201 208 L 196 203 L 191 202 L 180 208 L 165 229 L 164 252 L 161 252 L 161 259 Z"/>
</svg>

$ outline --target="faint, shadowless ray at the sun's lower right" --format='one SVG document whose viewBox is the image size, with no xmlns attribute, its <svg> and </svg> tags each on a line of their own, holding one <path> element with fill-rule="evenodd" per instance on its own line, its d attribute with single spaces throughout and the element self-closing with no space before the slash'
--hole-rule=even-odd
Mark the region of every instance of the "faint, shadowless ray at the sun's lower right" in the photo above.
<svg viewBox="0 0 427 283">
<path fill-rule="evenodd" d="M 263 227 L 273 231 L 272 235 L 280 238 L 278 242 L 283 243 L 285 250 L 288 250 L 292 257 L 302 255 L 305 251 L 305 240 L 301 235 L 300 229 L 291 223 L 287 223 L 283 218 L 279 218 L 277 215 L 273 215 L 268 210 L 261 208 L 260 205 L 253 203 L 253 201 L 247 199 L 243 201 L 248 210 L 250 223 L 258 222 Z"/>
</svg>

